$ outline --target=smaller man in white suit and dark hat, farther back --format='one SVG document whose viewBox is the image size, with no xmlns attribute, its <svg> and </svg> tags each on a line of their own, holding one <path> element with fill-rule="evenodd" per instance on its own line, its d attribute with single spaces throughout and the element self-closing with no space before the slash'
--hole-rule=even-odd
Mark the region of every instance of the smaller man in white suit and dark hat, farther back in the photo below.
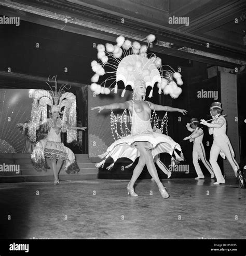
<svg viewBox="0 0 246 256">
<path fill-rule="evenodd" d="M 204 179 L 204 175 L 201 171 L 201 167 L 198 163 L 198 160 L 200 159 L 203 163 L 203 165 L 208 169 L 208 171 L 211 174 L 211 179 L 214 178 L 214 173 L 212 166 L 210 165 L 209 161 L 206 159 L 206 153 L 202 144 L 203 139 L 203 130 L 199 128 L 199 121 L 197 118 L 190 119 L 190 124 L 188 123 L 186 125 L 186 128 L 188 131 L 191 131 L 192 134 L 190 136 L 185 137 L 184 140 L 189 140 L 190 142 L 193 142 L 193 165 L 195 167 L 197 177 L 195 179 Z"/>
</svg>

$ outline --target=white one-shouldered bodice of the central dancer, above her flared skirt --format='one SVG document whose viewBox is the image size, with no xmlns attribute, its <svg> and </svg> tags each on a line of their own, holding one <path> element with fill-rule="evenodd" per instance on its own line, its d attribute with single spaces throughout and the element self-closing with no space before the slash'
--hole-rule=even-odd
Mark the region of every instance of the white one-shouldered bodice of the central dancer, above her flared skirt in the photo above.
<svg viewBox="0 0 246 256">
<path fill-rule="evenodd" d="M 140 134 L 140 133 L 153 133 L 151 127 L 151 115 L 147 121 L 141 119 L 138 113 L 134 110 L 134 103 L 132 101 L 132 116 L 131 116 L 131 134 Z"/>
</svg>

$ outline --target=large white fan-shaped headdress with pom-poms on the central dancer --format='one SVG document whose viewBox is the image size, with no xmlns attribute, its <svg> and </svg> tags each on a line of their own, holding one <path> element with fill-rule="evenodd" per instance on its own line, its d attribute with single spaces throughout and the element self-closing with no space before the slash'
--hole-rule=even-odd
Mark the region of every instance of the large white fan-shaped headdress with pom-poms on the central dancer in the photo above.
<svg viewBox="0 0 246 256">
<path fill-rule="evenodd" d="M 112 86 L 114 86 L 112 90 L 117 93 L 117 82 L 121 80 L 125 85 L 121 97 L 124 97 L 128 85 L 134 89 L 135 85 L 138 84 L 136 82 L 139 81 L 144 83 L 146 87 L 152 87 L 148 95 L 149 98 L 153 95 L 153 87 L 156 83 L 159 94 L 163 91 L 165 95 L 169 94 L 174 99 L 179 97 L 182 89 L 177 85 L 183 85 L 181 74 L 175 72 L 168 65 L 161 65 L 161 59 L 154 53 L 147 53 L 149 44 L 155 41 L 155 35 L 148 35 L 144 39 L 147 39 L 148 45 L 141 45 L 136 41 L 132 43 L 125 40 L 125 37 L 119 36 L 116 39 L 116 45 L 106 43 L 105 46 L 102 44 L 97 46 L 100 61 L 93 60 L 91 62 L 95 74 L 91 78 L 92 84 L 90 86 L 96 95 L 109 94 L 109 88 Z M 168 66 L 171 70 L 164 70 L 164 66 Z M 105 71 L 106 67 L 107 70 Z M 105 74 L 112 75 L 101 84 L 97 84 L 99 77 Z M 176 83 L 172 77 L 176 79 Z M 112 82 L 109 88 L 105 87 L 107 81 Z M 102 86 L 103 84 L 104 86 Z"/>
</svg>

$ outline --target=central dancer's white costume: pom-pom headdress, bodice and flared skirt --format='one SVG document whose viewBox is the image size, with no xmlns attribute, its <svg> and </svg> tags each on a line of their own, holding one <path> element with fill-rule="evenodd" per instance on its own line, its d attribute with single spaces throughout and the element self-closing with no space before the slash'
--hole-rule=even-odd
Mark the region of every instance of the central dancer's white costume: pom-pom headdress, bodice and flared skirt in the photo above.
<svg viewBox="0 0 246 256">
<path fill-rule="evenodd" d="M 145 39 L 147 39 L 147 44 L 141 45 L 139 42 L 132 43 L 125 37 L 119 36 L 116 39 L 117 45 L 106 43 L 105 46 L 101 44 L 97 46 L 99 62 L 95 60 L 91 62 L 91 67 L 95 74 L 91 78 L 92 84 L 90 86 L 95 95 L 100 93 L 109 94 L 112 91 L 109 88 L 112 86 L 114 86 L 114 92 L 117 93 L 117 83 L 122 81 L 125 89 L 122 91 L 121 97 L 125 96 L 127 86 L 131 86 L 134 90 L 139 83 L 152 88 L 148 98 L 153 96 L 155 84 L 159 88 L 159 94 L 163 91 L 165 95 L 169 94 L 174 99 L 179 97 L 182 89 L 178 85 L 183 85 L 181 74 L 175 72 L 168 65 L 162 65 L 161 59 L 154 53 L 147 53 L 149 44 L 155 41 L 154 35 L 148 35 Z M 168 70 L 164 69 L 165 66 L 168 66 Z M 96 84 L 99 81 L 99 77 L 104 76 L 105 73 L 107 73 L 105 82 Z M 108 76 L 108 74 L 112 75 Z M 176 83 L 172 78 L 176 79 Z M 110 84 L 109 88 L 105 87 L 106 81 Z M 145 96 L 142 99 L 145 100 Z M 131 133 L 129 134 L 127 130 L 128 133 L 121 131 L 121 134 L 118 134 L 117 122 L 112 119 L 111 129 L 112 133 L 115 132 L 117 134 L 117 140 L 100 157 L 105 157 L 105 159 L 112 157 L 114 163 L 121 157 L 134 161 L 140 156 L 135 144 L 136 142 L 144 141 L 151 144 L 153 158 L 160 153 L 166 152 L 172 156 L 173 165 L 183 160 L 180 145 L 169 136 L 155 132 L 151 126 L 151 116 L 149 120 L 142 120 L 135 112 L 134 100 L 133 96 Z M 122 127 L 122 123 L 120 126 Z M 180 153 L 176 152 L 175 149 L 179 150 Z M 98 163 L 97 167 L 103 166 L 105 159 Z M 114 163 L 108 166 L 107 169 L 112 168 Z"/>
</svg>

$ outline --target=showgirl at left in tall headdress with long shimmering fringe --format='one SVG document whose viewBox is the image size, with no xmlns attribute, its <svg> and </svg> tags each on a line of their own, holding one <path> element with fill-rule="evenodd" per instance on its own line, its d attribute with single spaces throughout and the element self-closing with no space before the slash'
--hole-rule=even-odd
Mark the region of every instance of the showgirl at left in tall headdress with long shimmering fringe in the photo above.
<svg viewBox="0 0 246 256">
<path fill-rule="evenodd" d="M 47 83 L 48 84 L 48 83 Z M 48 84 L 49 85 L 49 84 Z M 67 142 L 77 140 L 76 130 L 85 130 L 86 127 L 76 127 L 76 97 L 71 92 L 65 92 L 66 85 L 57 91 L 56 76 L 54 89 L 34 90 L 31 121 L 28 124 L 29 137 L 36 141 L 37 129 L 47 131 L 47 137 L 36 143 L 31 155 L 31 161 L 37 171 L 45 170 L 45 158 L 53 171 L 53 184 L 60 183 L 58 174 L 62 164 L 67 173 L 79 172 L 74 153 L 61 141 L 61 132 L 67 133 Z M 66 88 L 68 89 L 68 88 Z M 47 106 L 51 107 L 51 118 L 47 118 Z M 62 111 L 63 109 L 63 111 Z M 62 119 L 60 117 L 62 114 Z M 40 128 L 41 126 L 41 128 Z"/>
</svg>

